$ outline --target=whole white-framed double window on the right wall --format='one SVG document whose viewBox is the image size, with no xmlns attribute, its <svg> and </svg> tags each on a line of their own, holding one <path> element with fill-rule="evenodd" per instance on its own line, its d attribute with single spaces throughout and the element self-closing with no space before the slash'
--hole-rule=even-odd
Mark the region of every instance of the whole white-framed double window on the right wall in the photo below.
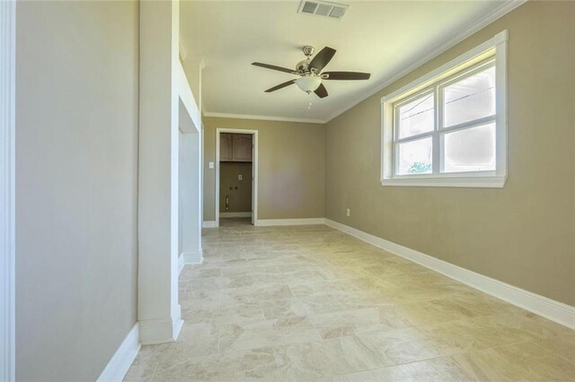
<svg viewBox="0 0 575 382">
<path fill-rule="evenodd" d="M 384 186 L 503 187 L 507 30 L 382 99 Z"/>
</svg>

